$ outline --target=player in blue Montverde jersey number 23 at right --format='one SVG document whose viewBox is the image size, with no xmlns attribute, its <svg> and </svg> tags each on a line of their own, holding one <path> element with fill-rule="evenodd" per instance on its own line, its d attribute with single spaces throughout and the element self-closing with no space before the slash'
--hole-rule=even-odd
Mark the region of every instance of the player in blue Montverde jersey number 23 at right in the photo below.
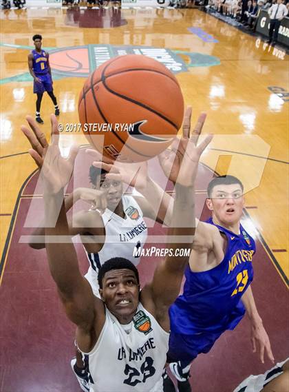
<svg viewBox="0 0 289 392">
<path fill-rule="evenodd" d="M 234 329 L 245 312 L 250 318 L 253 351 L 259 349 L 261 362 L 264 351 L 274 361 L 250 287 L 255 242 L 240 224 L 241 181 L 234 176 L 213 178 L 206 205 L 212 216 L 197 226 L 184 292 L 169 311 L 168 362 L 179 392 L 191 391 L 191 362 L 199 353 L 208 353 L 224 331 Z M 175 391 L 170 380 L 166 384 L 164 392 Z"/>
</svg>

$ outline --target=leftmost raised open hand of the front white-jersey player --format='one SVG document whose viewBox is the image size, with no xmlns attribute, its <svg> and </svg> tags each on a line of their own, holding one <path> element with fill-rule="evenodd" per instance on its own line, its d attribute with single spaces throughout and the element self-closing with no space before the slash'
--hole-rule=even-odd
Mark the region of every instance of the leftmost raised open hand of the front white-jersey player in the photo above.
<svg viewBox="0 0 289 392">
<path fill-rule="evenodd" d="M 58 147 L 58 122 L 54 114 L 51 116 L 52 143 L 50 145 L 48 145 L 45 135 L 39 130 L 34 119 L 31 116 L 27 116 L 26 120 L 30 125 L 30 129 L 22 125 L 21 131 L 28 138 L 28 141 L 30 141 L 32 149 L 28 152 L 41 170 L 40 173 L 43 178 L 45 192 L 56 194 L 67 185 L 72 176 L 78 146 L 73 145 L 71 147 L 68 158 L 61 156 Z"/>
</svg>

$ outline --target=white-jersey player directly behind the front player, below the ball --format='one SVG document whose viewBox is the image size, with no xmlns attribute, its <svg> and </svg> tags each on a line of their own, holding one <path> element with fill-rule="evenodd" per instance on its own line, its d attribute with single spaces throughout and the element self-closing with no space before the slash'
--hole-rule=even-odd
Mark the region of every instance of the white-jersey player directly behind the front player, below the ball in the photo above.
<svg viewBox="0 0 289 392">
<path fill-rule="evenodd" d="M 111 169 L 111 165 L 101 163 L 103 167 Z M 126 169 L 127 171 L 127 169 Z M 122 177 L 124 174 L 118 171 L 111 179 L 105 169 L 92 165 L 89 168 L 89 180 L 92 189 L 77 188 L 65 198 L 65 211 L 68 212 L 78 200 L 85 200 L 91 206 L 90 209 L 82 210 L 69 216 L 69 233 L 72 236 L 80 234 L 83 246 L 89 261 L 89 270 L 85 278 L 92 285 L 94 294 L 99 297 L 97 275 L 98 269 L 109 258 L 122 256 L 134 265 L 140 262 L 140 256 L 134 256 L 134 250 L 142 249 L 147 240 L 147 225 L 144 217 L 157 220 L 162 223 L 165 213 L 162 208 L 158 211 L 153 204 L 161 205 L 162 198 L 160 189 L 147 175 L 147 169 L 138 174 L 138 178 L 145 177 L 147 187 L 142 196 L 128 196 L 123 194 Z M 142 178 L 144 180 L 144 178 Z M 133 183 L 133 185 L 135 185 Z M 148 189 L 150 188 L 150 189 Z M 149 196 L 151 195 L 151 196 Z M 149 203 L 148 200 L 151 200 Z M 34 249 L 42 249 L 44 243 L 33 243 L 33 236 L 44 235 L 43 225 L 34 230 L 30 240 L 30 246 Z M 141 250 L 140 249 L 140 250 Z M 141 254 L 141 251 L 139 251 Z"/>
</svg>

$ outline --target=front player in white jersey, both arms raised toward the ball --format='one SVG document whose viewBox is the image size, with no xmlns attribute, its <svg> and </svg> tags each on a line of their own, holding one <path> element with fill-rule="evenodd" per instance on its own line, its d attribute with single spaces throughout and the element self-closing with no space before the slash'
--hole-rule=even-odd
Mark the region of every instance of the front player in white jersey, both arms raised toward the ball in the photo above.
<svg viewBox="0 0 289 392">
<path fill-rule="evenodd" d="M 169 237 L 175 238 L 173 243 L 169 244 L 171 251 L 165 260 L 158 263 L 153 279 L 144 285 L 141 291 L 138 271 L 129 260 L 114 258 L 105 262 L 98 271 L 101 300 L 94 296 L 92 287 L 79 271 L 72 241 L 54 243 L 55 237 L 69 238 L 70 234 L 65 203 L 61 205 L 61 201 L 64 198 L 63 189 L 72 176 L 76 149 L 72 149 L 67 159 L 61 156 L 57 147 L 59 133 L 55 116 L 52 116 L 51 147 L 48 147 L 43 133 L 31 117 L 28 117 L 28 123 L 34 134 L 26 127 L 21 128 L 32 145 L 30 155 L 41 168 L 45 247 L 50 273 L 56 282 L 67 317 L 76 324 L 76 342 L 79 349 L 91 355 L 98 353 L 107 363 L 107 370 L 103 369 L 101 374 L 97 366 L 92 367 L 91 391 L 103 392 L 103 387 L 102 390 L 99 389 L 98 382 L 102 382 L 105 391 L 109 392 L 155 392 L 158 385 L 157 391 L 162 391 L 161 374 L 168 348 L 168 335 L 165 333 L 169 333 L 170 329 L 169 307 L 178 296 L 184 269 L 189 260 L 188 253 L 180 249 L 187 249 L 193 240 L 195 205 L 191 200 L 195 177 L 200 156 L 211 141 L 211 136 L 207 136 L 196 146 L 202 130 L 200 122 L 193 136 L 189 137 L 190 113 L 191 110 L 185 115 L 184 136 L 178 145 L 178 158 L 172 158 L 172 154 L 175 156 L 173 151 L 163 156 L 167 166 L 172 167 L 169 178 L 175 183 L 173 216 L 169 229 Z M 35 143 L 35 136 L 39 143 Z M 49 162 L 49 165 L 45 162 Z M 56 207 L 58 205 L 61 205 L 60 212 Z M 55 218 L 56 225 L 51 227 Z M 180 244 L 178 236 L 182 236 Z M 177 254 L 184 256 L 176 256 Z M 110 333 L 107 333 L 107 328 L 111 330 Z M 122 333 L 122 329 L 127 336 Z M 145 341 L 144 336 L 147 338 Z M 114 355 L 107 353 L 111 340 L 116 342 Z M 117 355 L 122 355 L 122 359 L 119 360 Z"/>
</svg>

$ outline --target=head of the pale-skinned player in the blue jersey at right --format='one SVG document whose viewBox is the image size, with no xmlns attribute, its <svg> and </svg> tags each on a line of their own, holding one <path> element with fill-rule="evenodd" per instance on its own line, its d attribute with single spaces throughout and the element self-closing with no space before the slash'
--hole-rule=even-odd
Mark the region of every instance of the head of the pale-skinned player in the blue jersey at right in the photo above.
<svg viewBox="0 0 289 392">
<path fill-rule="evenodd" d="M 244 207 L 244 186 L 234 176 L 215 177 L 208 184 L 206 205 L 222 225 L 237 223 Z"/>
</svg>

